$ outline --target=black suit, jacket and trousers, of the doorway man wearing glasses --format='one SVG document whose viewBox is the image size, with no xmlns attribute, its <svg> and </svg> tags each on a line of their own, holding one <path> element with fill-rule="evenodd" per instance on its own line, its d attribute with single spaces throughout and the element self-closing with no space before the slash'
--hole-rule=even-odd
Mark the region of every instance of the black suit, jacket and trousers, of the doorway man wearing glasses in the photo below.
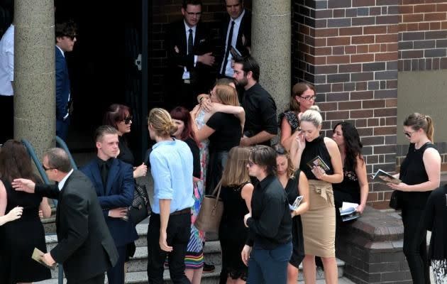
<svg viewBox="0 0 447 284">
<path fill-rule="evenodd" d="M 169 68 L 165 84 L 169 92 L 166 96 L 169 98 L 168 107 L 182 105 L 192 109 L 197 104 L 197 94 L 208 93 L 214 83 L 212 67 L 200 62 L 194 66 L 194 55 L 204 55 L 212 51 L 209 30 L 203 23 L 197 24 L 192 54 L 187 54 L 187 34 L 189 33 L 183 19 L 170 23 L 167 29 L 166 48 Z M 189 70 L 189 84 L 185 84 L 182 79 L 184 67 Z"/>
</svg>

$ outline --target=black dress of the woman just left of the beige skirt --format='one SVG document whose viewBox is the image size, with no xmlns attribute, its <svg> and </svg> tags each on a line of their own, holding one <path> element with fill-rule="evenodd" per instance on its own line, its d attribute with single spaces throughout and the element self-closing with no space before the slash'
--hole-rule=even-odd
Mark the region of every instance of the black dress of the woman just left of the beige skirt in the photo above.
<svg viewBox="0 0 447 284">
<path fill-rule="evenodd" d="M 294 174 L 294 178 L 290 178 L 285 187 L 287 200 L 289 200 L 290 205 L 292 205 L 299 196 L 298 184 L 300 173 L 301 170 L 297 170 Z M 299 215 L 292 218 L 292 245 L 292 257 L 290 258 L 289 263 L 298 268 L 299 263 L 301 263 L 304 259 L 303 225 L 301 222 L 301 216 Z"/>
</svg>

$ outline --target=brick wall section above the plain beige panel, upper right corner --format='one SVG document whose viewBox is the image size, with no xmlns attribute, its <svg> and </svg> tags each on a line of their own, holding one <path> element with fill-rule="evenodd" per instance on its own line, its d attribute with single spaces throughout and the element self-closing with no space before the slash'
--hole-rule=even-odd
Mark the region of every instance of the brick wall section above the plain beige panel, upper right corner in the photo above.
<svg viewBox="0 0 447 284">
<path fill-rule="evenodd" d="M 447 69 L 447 3 L 400 0 L 399 71 Z"/>
</svg>

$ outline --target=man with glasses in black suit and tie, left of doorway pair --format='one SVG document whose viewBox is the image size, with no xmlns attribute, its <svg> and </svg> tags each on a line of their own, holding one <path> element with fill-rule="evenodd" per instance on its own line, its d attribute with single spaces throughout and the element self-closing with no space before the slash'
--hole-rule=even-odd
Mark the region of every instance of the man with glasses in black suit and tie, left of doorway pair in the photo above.
<svg viewBox="0 0 447 284">
<path fill-rule="evenodd" d="M 208 93 L 213 84 L 214 56 L 208 29 L 200 23 L 202 1 L 184 0 L 183 19 L 167 30 L 169 72 L 167 104 L 192 109 L 197 94 Z"/>
</svg>

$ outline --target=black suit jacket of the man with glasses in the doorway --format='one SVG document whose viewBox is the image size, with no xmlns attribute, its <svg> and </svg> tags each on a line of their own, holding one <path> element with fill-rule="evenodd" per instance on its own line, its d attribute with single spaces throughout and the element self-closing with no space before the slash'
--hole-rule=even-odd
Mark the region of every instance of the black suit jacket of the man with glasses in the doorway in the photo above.
<svg viewBox="0 0 447 284">
<path fill-rule="evenodd" d="M 197 62 L 194 67 L 194 55 L 204 55 L 205 53 L 211 53 L 213 51 L 210 33 L 204 24 L 199 22 L 196 26 L 194 45 L 192 48 L 193 54 L 187 54 L 188 44 L 183 19 L 170 23 L 166 35 L 169 75 L 174 77 L 175 80 L 182 80 L 183 67 L 187 67 L 194 84 L 202 84 L 207 87 L 211 86 L 212 76 L 210 72 L 214 68 L 200 62 Z M 176 52 L 175 46 L 177 46 L 179 53 Z"/>
</svg>

